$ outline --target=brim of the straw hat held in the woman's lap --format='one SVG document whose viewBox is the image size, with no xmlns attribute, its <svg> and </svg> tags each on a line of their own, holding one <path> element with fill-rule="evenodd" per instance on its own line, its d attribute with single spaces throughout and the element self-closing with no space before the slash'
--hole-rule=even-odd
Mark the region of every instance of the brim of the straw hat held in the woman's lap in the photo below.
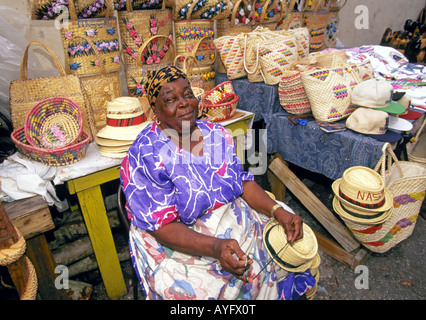
<svg viewBox="0 0 426 320">
<path fill-rule="evenodd" d="M 287 263 L 285 261 L 283 261 L 280 257 L 279 254 L 277 254 L 277 251 L 273 248 L 273 246 L 270 244 L 269 241 L 269 234 L 272 230 L 273 227 L 278 227 L 282 232 L 283 238 L 282 238 L 282 245 L 285 246 L 285 244 L 287 243 L 287 236 L 285 234 L 284 228 L 276 221 L 276 220 L 271 220 L 268 222 L 268 224 L 265 226 L 265 229 L 263 230 L 263 243 L 266 247 L 266 251 L 269 254 L 269 257 L 271 259 L 274 260 L 274 262 L 282 269 L 289 271 L 289 272 L 304 272 L 306 270 L 308 270 L 311 265 L 315 262 L 315 255 L 312 258 L 308 258 L 308 260 L 299 265 L 299 266 L 293 266 L 290 263 Z M 298 240 L 299 241 L 299 240 Z M 318 244 L 316 244 L 316 249 L 318 248 Z M 281 249 L 281 248 L 280 248 Z M 286 249 L 284 249 L 286 250 Z M 279 250 L 278 250 L 279 252 Z M 315 252 L 315 254 L 317 254 L 317 250 Z"/>
</svg>

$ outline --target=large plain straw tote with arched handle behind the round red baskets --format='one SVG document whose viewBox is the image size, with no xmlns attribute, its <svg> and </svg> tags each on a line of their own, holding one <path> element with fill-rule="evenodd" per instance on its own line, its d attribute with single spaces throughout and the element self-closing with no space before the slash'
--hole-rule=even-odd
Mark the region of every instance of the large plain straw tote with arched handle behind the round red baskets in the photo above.
<svg viewBox="0 0 426 320">
<path fill-rule="evenodd" d="M 29 49 L 34 46 L 43 48 L 52 58 L 59 76 L 28 79 Z M 73 100 L 81 110 L 83 131 L 92 138 L 90 130 L 90 112 L 87 110 L 80 79 L 67 75 L 58 56 L 46 44 L 39 41 L 30 42 L 25 48 L 20 65 L 20 79 L 10 82 L 10 114 L 13 128 L 24 126 L 28 112 L 37 103 L 51 97 L 65 97 Z"/>
</svg>

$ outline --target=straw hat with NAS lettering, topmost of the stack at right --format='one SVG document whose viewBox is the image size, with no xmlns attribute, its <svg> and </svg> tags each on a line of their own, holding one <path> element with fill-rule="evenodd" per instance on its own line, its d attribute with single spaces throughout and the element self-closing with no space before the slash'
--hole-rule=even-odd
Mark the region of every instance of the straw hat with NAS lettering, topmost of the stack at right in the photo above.
<svg viewBox="0 0 426 320">
<path fill-rule="evenodd" d="M 375 215 L 393 207 L 393 197 L 384 187 L 383 178 L 374 170 L 354 166 L 331 185 L 337 199 L 353 211 Z"/>
</svg>

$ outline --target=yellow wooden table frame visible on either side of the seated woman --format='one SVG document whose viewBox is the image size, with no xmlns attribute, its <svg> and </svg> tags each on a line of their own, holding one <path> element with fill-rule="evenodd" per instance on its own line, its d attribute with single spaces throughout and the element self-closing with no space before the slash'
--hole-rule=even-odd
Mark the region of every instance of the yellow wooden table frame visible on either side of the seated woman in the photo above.
<svg viewBox="0 0 426 320">
<path fill-rule="evenodd" d="M 251 128 L 253 116 L 253 113 L 244 112 L 244 116 L 223 123 L 235 139 L 237 156 L 243 163 L 243 137 Z M 125 295 L 127 289 L 108 222 L 101 185 L 118 179 L 119 172 L 120 166 L 114 165 L 111 168 L 66 181 L 70 194 L 77 194 L 99 271 L 110 299 L 118 299 Z"/>
</svg>

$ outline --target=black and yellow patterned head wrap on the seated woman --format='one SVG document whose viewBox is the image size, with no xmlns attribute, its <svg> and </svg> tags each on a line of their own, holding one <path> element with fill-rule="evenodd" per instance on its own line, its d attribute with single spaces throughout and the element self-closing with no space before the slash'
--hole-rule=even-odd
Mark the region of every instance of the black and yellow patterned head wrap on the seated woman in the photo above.
<svg viewBox="0 0 426 320">
<path fill-rule="evenodd" d="M 167 66 L 157 71 L 148 71 L 147 76 L 148 81 L 145 84 L 145 91 L 152 108 L 155 108 L 158 93 L 165 83 L 175 81 L 179 78 L 188 81 L 186 74 L 175 66 Z"/>
</svg>

